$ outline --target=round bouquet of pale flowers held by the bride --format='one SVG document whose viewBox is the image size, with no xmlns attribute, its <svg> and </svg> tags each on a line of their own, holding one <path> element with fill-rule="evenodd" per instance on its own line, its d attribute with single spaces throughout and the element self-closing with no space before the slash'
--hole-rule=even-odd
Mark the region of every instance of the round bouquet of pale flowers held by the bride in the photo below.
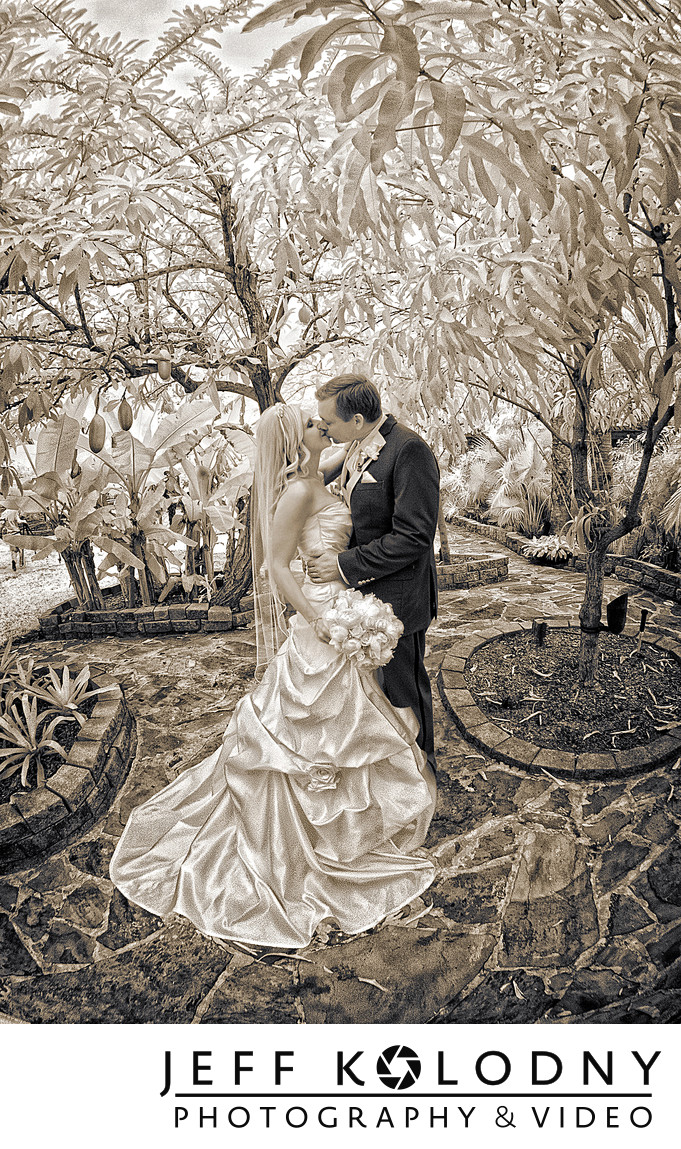
<svg viewBox="0 0 681 1149">
<path fill-rule="evenodd" d="M 322 617 L 331 633 L 331 646 L 363 670 L 385 666 L 404 630 L 387 602 L 351 587 L 341 591 Z"/>
</svg>

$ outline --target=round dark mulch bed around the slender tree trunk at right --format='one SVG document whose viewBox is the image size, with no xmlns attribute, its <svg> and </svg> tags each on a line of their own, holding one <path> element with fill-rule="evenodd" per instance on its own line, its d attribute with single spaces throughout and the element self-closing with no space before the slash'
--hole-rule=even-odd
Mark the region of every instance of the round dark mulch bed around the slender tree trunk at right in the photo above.
<svg viewBox="0 0 681 1149">
<path fill-rule="evenodd" d="M 497 726 L 517 738 L 576 754 L 626 750 L 681 724 L 681 666 L 666 653 L 604 633 L 595 687 L 576 692 L 579 630 L 494 639 L 466 665 L 467 689 Z"/>
</svg>

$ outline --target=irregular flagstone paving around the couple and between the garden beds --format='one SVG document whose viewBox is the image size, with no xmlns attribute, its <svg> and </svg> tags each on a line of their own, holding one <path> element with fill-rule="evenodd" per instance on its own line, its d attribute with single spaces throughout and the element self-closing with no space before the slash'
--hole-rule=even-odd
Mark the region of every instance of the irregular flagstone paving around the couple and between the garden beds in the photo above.
<svg viewBox="0 0 681 1149">
<path fill-rule="evenodd" d="M 500 545 L 452 532 L 452 550 Z M 583 576 L 509 553 L 509 579 L 444 592 L 428 669 L 490 620 L 574 617 Z M 629 612 L 679 637 L 681 603 L 617 579 Z M 214 750 L 251 684 L 250 631 L 39 642 L 124 687 L 138 755 L 109 812 L 40 866 L 0 879 L 0 1020 L 94 1023 L 678 1021 L 680 763 L 633 778 L 529 774 L 464 741 L 434 689 L 441 865 L 396 921 L 248 954 L 130 904 L 108 862 L 130 810 Z M 681 709 L 681 703 L 680 703 Z"/>
</svg>

